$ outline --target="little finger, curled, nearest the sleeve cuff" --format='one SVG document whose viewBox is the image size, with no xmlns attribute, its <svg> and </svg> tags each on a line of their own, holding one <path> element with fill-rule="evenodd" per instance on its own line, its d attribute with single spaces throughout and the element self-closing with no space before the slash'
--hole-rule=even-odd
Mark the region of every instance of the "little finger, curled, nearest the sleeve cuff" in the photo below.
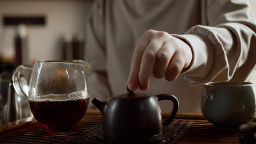
<svg viewBox="0 0 256 144">
<path fill-rule="evenodd" d="M 185 62 L 182 58 L 181 53 L 175 52 L 173 54 L 173 57 L 171 58 L 168 68 L 165 71 L 165 79 L 167 81 L 175 80 L 178 77 L 178 75 L 181 73 L 184 67 L 184 63 Z"/>
</svg>

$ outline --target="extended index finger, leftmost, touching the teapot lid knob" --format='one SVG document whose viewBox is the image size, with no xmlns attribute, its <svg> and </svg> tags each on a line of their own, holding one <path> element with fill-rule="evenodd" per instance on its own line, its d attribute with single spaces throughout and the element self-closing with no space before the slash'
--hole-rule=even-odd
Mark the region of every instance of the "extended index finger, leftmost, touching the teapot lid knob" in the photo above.
<svg viewBox="0 0 256 144">
<path fill-rule="evenodd" d="M 135 50 L 133 51 L 130 72 L 126 82 L 126 86 L 131 91 L 135 91 L 139 85 L 138 74 L 141 67 L 142 56 L 146 47 L 149 44 L 149 41 L 150 37 L 149 34 L 146 32 L 139 39 Z"/>
</svg>

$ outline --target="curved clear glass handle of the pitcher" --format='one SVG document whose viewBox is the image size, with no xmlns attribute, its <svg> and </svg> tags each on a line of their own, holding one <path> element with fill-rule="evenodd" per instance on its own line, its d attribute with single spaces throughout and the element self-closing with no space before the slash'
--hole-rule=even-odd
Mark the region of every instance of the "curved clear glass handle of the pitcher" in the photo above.
<svg viewBox="0 0 256 144">
<path fill-rule="evenodd" d="M 25 100 L 28 100 L 28 95 L 26 95 L 24 93 L 24 91 L 22 90 L 22 87 L 20 85 L 20 72 L 23 69 L 33 70 L 33 66 L 32 65 L 20 65 L 19 67 L 17 67 L 14 70 L 14 73 L 13 73 L 13 87 L 14 87 L 16 93 L 18 93 Z"/>
</svg>

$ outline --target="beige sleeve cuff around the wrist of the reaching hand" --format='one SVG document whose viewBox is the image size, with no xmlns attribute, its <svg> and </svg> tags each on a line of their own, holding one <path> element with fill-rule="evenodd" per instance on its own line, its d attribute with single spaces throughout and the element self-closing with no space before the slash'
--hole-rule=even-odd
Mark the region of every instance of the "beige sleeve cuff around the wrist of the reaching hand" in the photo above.
<svg viewBox="0 0 256 144">
<path fill-rule="evenodd" d="M 191 80 L 203 79 L 213 64 L 214 51 L 210 39 L 202 34 L 172 34 L 172 36 L 185 40 L 193 53 L 189 67 L 183 69 L 181 75 Z"/>
</svg>

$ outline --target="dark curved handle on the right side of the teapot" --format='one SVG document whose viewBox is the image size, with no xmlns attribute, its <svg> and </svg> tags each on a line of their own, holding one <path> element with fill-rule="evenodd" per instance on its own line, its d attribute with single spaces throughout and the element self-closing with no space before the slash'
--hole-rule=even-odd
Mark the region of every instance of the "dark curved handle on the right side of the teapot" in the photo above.
<svg viewBox="0 0 256 144">
<path fill-rule="evenodd" d="M 171 95 L 171 94 L 159 94 L 159 95 L 156 95 L 156 98 L 158 98 L 158 101 L 161 101 L 161 100 L 171 100 L 172 101 L 173 109 L 172 109 L 171 115 L 166 119 L 165 122 L 162 122 L 163 125 L 170 124 L 172 122 L 172 119 L 175 117 L 175 115 L 178 111 L 178 107 L 179 107 L 178 99 L 174 95 Z"/>
</svg>

